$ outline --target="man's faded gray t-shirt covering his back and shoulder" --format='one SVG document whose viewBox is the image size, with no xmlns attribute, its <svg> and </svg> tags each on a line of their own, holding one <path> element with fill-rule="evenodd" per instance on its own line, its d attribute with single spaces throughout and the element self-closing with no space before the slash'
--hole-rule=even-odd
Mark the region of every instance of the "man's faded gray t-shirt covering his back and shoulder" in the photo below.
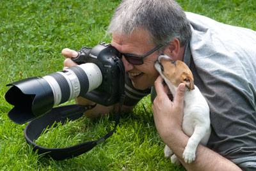
<svg viewBox="0 0 256 171">
<path fill-rule="evenodd" d="M 184 62 L 211 111 L 207 146 L 243 170 L 256 170 L 256 32 L 195 13 L 186 15 L 192 37 Z M 143 94 L 138 95 L 127 101 L 136 104 Z M 155 97 L 152 87 L 151 100 Z"/>
</svg>

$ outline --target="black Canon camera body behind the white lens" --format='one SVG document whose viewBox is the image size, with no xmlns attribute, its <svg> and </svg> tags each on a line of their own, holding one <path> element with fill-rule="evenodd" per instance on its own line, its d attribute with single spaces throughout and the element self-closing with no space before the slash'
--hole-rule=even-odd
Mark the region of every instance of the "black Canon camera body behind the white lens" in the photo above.
<svg viewBox="0 0 256 171">
<path fill-rule="evenodd" d="M 118 103 L 121 96 L 120 86 L 124 86 L 122 73 L 124 65 L 121 61 L 121 54 L 115 47 L 109 43 L 100 43 L 93 48 L 83 47 L 78 51 L 78 56 L 72 58 L 77 64 L 94 63 L 102 73 L 102 84 L 93 91 L 81 94 L 82 97 L 109 106 Z"/>
</svg>

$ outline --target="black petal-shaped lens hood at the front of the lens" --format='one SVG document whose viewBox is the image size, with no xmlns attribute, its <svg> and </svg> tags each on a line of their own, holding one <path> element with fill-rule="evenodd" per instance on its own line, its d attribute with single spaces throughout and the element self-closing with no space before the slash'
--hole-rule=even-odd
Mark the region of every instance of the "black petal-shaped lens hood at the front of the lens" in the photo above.
<svg viewBox="0 0 256 171">
<path fill-rule="evenodd" d="M 17 124 L 24 124 L 49 112 L 54 105 L 51 86 L 41 77 L 26 78 L 12 85 L 5 100 L 14 105 L 8 117 Z"/>
</svg>

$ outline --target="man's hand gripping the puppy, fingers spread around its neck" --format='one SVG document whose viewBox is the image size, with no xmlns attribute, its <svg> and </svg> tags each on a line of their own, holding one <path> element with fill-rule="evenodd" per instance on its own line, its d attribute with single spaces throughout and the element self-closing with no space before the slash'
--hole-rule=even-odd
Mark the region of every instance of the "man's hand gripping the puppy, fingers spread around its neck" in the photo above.
<svg viewBox="0 0 256 171">
<path fill-rule="evenodd" d="M 152 106 L 157 131 L 167 141 L 173 131 L 182 131 L 185 84 L 180 84 L 173 101 L 168 97 L 169 89 L 159 76 L 155 82 L 157 96 Z"/>
</svg>

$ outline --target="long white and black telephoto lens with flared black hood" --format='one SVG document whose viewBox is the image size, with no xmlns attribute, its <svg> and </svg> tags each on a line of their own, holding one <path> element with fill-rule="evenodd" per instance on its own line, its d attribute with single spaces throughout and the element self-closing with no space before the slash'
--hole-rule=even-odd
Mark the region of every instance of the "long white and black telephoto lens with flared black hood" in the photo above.
<svg viewBox="0 0 256 171">
<path fill-rule="evenodd" d="M 23 124 L 49 112 L 52 107 L 73 100 L 102 84 L 102 73 L 97 64 L 72 66 L 45 77 L 33 77 L 13 82 L 5 99 L 15 107 L 8 117 Z M 15 98 L 14 98 L 15 97 Z"/>
</svg>

